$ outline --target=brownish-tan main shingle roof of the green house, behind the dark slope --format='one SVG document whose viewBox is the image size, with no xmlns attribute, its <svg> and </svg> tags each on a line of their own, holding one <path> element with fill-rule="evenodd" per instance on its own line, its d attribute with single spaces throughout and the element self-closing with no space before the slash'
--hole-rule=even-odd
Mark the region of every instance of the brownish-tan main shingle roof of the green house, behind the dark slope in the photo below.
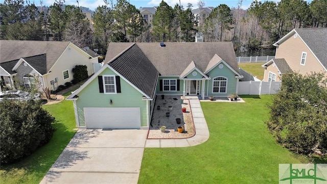
<svg viewBox="0 0 327 184">
<path fill-rule="evenodd" d="M 167 42 L 166 47 L 154 43 L 135 43 L 163 76 L 179 76 L 194 61 L 200 71 L 217 54 L 239 73 L 232 42 Z M 131 43 L 109 43 L 106 62 L 122 52 Z"/>
</svg>

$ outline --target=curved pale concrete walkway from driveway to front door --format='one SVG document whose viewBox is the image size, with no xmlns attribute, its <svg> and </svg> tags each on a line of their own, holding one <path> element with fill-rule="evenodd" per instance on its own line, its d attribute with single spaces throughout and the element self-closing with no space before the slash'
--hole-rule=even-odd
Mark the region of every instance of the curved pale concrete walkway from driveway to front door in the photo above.
<svg viewBox="0 0 327 184">
<path fill-rule="evenodd" d="M 198 97 L 186 97 L 190 100 L 193 121 L 195 125 L 195 135 L 188 139 L 148 139 L 146 148 L 174 148 L 196 146 L 209 139 L 209 129 L 206 124 L 204 114 Z"/>
</svg>

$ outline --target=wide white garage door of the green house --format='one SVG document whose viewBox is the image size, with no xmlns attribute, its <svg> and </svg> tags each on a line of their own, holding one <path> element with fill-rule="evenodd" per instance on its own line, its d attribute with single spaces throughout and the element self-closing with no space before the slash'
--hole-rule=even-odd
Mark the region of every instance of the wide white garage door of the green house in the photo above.
<svg viewBox="0 0 327 184">
<path fill-rule="evenodd" d="M 139 107 L 85 107 L 86 128 L 140 128 Z"/>
</svg>

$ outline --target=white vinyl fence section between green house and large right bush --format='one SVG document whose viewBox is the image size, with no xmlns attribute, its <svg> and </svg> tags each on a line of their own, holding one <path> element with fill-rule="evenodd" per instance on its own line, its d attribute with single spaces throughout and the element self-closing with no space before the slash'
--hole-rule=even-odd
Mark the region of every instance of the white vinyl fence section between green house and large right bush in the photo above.
<svg viewBox="0 0 327 184">
<path fill-rule="evenodd" d="M 276 94 L 282 82 L 240 81 L 239 95 L 266 95 Z"/>
</svg>

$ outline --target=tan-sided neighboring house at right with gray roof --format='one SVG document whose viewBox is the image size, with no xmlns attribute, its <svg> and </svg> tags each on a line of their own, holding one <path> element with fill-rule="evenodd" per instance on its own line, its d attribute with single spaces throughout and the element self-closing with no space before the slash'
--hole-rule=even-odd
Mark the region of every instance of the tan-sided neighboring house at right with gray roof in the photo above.
<svg viewBox="0 0 327 184">
<path fill-rule="evenodd" d="M 293 29 L 273 45 L 276 59 L 262 65 L 264 81 L 280 81 L 291 71 L 302 75 L 327 72 L 327 28 Z"/>
</svg>

